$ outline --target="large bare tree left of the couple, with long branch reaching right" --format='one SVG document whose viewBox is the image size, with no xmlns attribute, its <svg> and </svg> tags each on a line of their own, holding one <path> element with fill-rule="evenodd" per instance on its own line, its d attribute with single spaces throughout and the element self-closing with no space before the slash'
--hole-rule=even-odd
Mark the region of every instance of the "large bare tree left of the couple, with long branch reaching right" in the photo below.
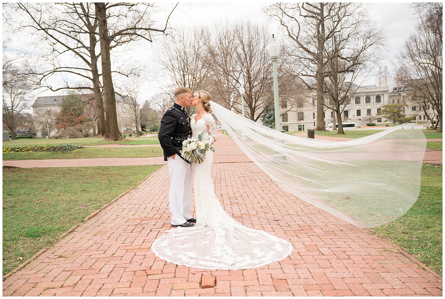
<svg viewBox="0 0 445 299">
<path fill-rule="evenodd" d="M 94 3 L 101 46 L 102 82 L 105 97 L 105 140 L 122 140 L 116 113 L 116 100 L 111 69 L 110 50 L 113 42 L 121 44 L 144 39 L 153 41 L 153 34 L 165 33 L 171 13 L 163 28 L 156 26 L 151 15 L 153 4 Z M 176 7 L 176 6 L 175 6 Z M 173 8 L 174 9 L 174 8 Z"/>
</svg>

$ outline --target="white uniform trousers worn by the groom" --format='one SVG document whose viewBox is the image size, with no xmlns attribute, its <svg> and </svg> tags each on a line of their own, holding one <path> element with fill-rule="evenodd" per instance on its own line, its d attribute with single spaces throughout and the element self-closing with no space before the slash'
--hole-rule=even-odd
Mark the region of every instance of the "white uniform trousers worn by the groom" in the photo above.
<svg viewBox="0 0 445 299">
<path fill-rule="evenodd" d="M 170 173 L 170 191 L 168 205 L 170 209 L 171 224 L 180 225 L 191 219 L 192 205 L 192 167 L 176 154 L 175 158 L 167 157 L 168 171 Z"/>
</svg>

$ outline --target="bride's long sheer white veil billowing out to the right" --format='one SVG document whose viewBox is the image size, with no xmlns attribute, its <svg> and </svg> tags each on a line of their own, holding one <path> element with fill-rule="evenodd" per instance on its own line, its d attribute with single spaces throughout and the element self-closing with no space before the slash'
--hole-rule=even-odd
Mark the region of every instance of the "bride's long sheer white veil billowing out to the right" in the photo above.
<svg viewBox="0 0 445 299">
<path fill-rule="evenodd" d="M 420 192 L 426 139 L 405 123 L 349 141 L 292 136 L 211 102 L 243 152 L 286 191 L 358 227 L 402 216 Z"/>
</svg>

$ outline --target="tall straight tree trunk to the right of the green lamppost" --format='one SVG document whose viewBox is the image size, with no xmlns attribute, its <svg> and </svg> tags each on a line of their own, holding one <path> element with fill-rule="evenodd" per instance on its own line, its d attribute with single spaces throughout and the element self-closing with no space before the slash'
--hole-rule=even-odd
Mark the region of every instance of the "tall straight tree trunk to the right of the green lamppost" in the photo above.
<svg viewBox="0 0 445 299">
<path fill-rule="evenodd" d="M 320 3 L 320 27 L 317 49 L 317 131 L 326 131 L 324 124 L 323 57 L 324 57 L 324 5 Z M 335 124 L 334 124 L 335 125 Z"/>
</svg>

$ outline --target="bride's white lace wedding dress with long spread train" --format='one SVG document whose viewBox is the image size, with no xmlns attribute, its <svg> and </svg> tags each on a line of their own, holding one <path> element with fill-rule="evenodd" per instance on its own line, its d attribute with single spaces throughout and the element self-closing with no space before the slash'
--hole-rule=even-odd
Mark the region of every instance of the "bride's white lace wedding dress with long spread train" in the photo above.
<svg viewBox="0 0 445 299">
<path fill-rule="evenodd" d="M 190 118 L 193 136 L 207 133 L 213 143 L 217 137 L 212 115 L 206 114 L 196 122 L 195 116 Z M 192 163 L 196 225 L 167 231 L 153 242 L 154 254 L 177 265 L 226 270 L 259 267 L 286 258 L 292 251 L 289 242 L 250 229 L 224 211 L 214 193 L 212 162 L 213 152 L 209 151 L 204 162 Z"/>
</svg>

